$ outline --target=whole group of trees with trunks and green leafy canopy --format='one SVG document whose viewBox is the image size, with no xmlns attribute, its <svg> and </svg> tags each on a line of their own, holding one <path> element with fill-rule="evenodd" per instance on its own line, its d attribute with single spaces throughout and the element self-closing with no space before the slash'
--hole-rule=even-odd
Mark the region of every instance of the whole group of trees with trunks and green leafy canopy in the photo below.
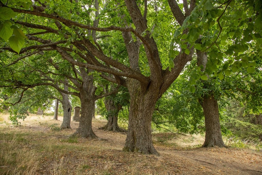
<svg viewBox="0 0 262 175">
<path fill-rule="evenodd" d="M 184 118 L 179 123 L 162 115 L 165 103 L 180 111 L 171 116 L 192 118 L 193 130 L 204 115 L 205 147 L 225 146 L 218 101 L 249 94 L 246 103 L 260 112 L 260 1 L 2 0 L 0 5 L 3 103 L 32 102 L 38 88 L 43 97 L 34 105 L 60 93 L 62 128 L 70 128 L 69 96 L 77 96 L 81 119 L 75 136 L 97 137 L 91 127 L 95 101 L 118 91 L 105 98 L 103 129 L 120 130 L 117 114 L 128 105 L 127 151 L 157 154 L 152 120 L 186 127 Z M 16 119 L 22 112 L 12 113 Z"/>
</svg>

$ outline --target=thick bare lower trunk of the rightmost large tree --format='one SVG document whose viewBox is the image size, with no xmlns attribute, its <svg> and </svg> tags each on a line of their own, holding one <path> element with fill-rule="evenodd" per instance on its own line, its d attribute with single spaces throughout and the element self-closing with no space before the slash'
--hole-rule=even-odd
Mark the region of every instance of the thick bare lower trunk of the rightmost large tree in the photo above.
<svg viewBox="0 0 262 175">
<path fill-rule="evenodd" d="M 206 126 L 205 142 L 202 147 L 225 147 L 222 140 L 217 100 L 214 96 L 205 96 L 201 105 L 204 110 Z"/>
</svg>

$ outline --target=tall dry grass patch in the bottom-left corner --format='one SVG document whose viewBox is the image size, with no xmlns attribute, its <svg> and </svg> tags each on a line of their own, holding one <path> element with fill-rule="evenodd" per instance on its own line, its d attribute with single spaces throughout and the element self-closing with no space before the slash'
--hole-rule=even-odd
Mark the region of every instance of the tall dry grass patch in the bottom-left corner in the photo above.
<svg viewBox="0 0 262 175">
<path fill-rule="evenodd" d="M 15 135 L 0 132 L 0 174 L 36 174 L 38 156 L 18 140 Z"/>
</svg>

